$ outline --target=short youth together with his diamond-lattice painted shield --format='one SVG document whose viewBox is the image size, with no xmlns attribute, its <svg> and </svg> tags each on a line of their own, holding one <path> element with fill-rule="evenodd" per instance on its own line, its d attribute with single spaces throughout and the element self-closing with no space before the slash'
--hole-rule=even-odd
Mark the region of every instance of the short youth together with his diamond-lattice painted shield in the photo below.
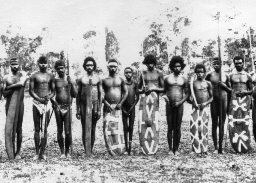
<svg viewBox="0 0 256 183">
<path fill-rule="evenodd" d="M 190 135 L 192 140 L 192 154 L 205 153 L 208 154 L 208 112 L 206 106 L 212 102 L 212 85 L 209 81 L 204 80 L 206 72 L 205 66 L 199 63 L 195 66 L 195 74 L 197 76 L 194 82 L 190 83 L 192 88 L 189 89 L 189 96 L 192 92 L 193 101 L 188 98 L 188 103 L 192 104 L 190 121 Z M 209 96 L 209 97 L 208 97 Z"/>
</svg>

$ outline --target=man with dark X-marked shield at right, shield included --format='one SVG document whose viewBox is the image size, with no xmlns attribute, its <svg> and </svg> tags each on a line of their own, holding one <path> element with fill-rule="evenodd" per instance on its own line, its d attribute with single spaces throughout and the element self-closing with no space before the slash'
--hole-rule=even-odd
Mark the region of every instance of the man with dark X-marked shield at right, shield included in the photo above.
<svg viewBox="0 0 256 183">
<path fill-rule="evenodd" d="M 229 112 L 229 134 L 233 149 L 238 153 L 250 150 L 250 95 L 253 93 L 252 77 L 244 71 L 244 58 L 233 59 L 236 71 L 230 74 L 232 94 Z"/>
</svg>

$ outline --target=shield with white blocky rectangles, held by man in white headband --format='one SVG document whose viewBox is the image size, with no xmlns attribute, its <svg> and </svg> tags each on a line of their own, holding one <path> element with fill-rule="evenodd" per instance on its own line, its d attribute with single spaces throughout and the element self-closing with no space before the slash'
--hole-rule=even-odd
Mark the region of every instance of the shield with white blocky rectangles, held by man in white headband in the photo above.
<svg viewBox="0 0 256 183">
<path fill-rule="evenodd" d="M 103 134 L 109 154 L 121 156 L 125 152 L 122 112 L 116 110 L 116 104 L 111 104 L 112 112 L 105 113 Z"/>
</svg>

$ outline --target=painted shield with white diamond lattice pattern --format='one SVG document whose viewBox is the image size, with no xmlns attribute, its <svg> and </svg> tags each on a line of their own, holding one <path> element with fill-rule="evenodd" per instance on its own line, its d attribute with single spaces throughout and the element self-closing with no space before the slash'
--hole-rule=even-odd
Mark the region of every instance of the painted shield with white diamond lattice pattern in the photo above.
<svg viewBox="0 0 256 183">
<path fill-rule="evenodd" d="M 190 118 L 190 136 L 192 149 L 195 153 L 207 152 L 208 149 L 208 119 L 207 108 L 192 110 Z"/>
</svg>

